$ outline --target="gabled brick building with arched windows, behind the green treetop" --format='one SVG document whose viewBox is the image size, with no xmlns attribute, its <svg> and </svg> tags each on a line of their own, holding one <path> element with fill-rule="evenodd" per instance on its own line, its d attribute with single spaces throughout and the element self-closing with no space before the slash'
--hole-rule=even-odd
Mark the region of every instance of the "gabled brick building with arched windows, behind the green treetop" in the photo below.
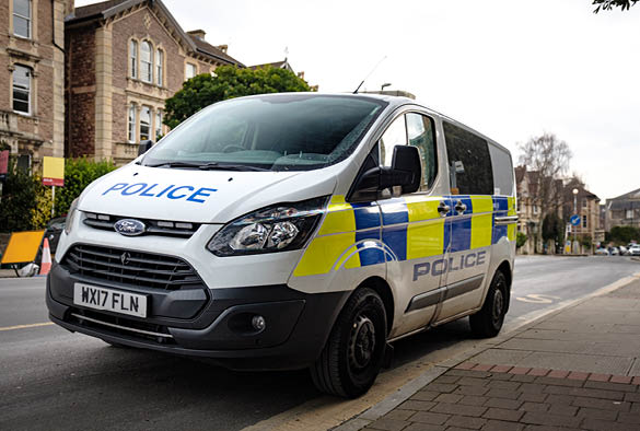
<svg viewBox="0 0 640 431">
<path fill-rule="evenodd" d="M 166 132 L 164 101 L 185 80 L 244 66 L 226 46 L 209 44 L 203 31 L 185 33 L 160 0 L 77 8 L 65 36 L 68 156 L 130 161 L 141 140 Z"/>
</svg>

